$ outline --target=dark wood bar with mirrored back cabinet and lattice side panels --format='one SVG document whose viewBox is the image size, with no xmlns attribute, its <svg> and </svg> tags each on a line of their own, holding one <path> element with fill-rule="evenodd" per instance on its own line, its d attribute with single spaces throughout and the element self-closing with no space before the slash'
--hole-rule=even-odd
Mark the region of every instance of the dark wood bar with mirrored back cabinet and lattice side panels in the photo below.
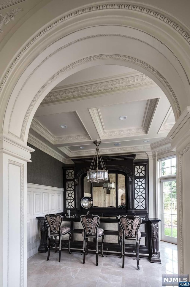
<svg viewBox="0 0 190 287">
<path fill-rule="evenodd" d="M 103 251 L 119 255 L 119 216 L 133 214 L 142 219 L 140 232 L 140 257 L 149 258 L 151 262 L 161 263 L 158 245 L 158 218 L 149 218 L 148 159 L 135 160 L 135 154 L 104 156 L 103 161 L 115 182 L 114 190 L 104 190 L 102 183 L 89 183 L 86 176 L 92 158 L 73 159 L 72 166 L 63 167 L 64 213 L 63 225 L 72 230 L 71 249 L 81 251 L 83 248 L 83 227 L 81 214 L 100 216 L 100 227 L 104 229 Z M 80 201 L 84 196 L 92 198 L 93 205 L 83 208 Z M 66 216 L 70 213 L 70 216 Z M 47 251 L 47 230 L 43 217 L 37 217 L 42 233 L 42 243 L 38 252 Z M 64 238 L 63 240 L 67 240 Z M 89 241 L 89 252 L 93 252 L 93 242 Z M 126 255 L 134 256 L 136 245 L 126 240 Z"/>
</svg>

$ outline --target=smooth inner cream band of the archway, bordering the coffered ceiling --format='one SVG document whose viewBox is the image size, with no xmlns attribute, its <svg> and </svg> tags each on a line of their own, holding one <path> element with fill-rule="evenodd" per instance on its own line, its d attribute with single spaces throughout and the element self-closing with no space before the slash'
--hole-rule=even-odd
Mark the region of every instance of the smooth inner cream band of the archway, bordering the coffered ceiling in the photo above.
<svg viewBox="0 0 190 287">
<path fill-rule="evenodd" d="M 102 29 L 107 33 L 102 34 Z M 131 28 L 101 26 L 73 33 L 72 41 L 71 35 L 68 35 L 53 43 L 27 66 L 18 79 L 7 105 L 4 131 L 26 142 L 31 120 L 47 93 L 70 74 L 100 64 L 129 66 L 147 74 L 165 92 L 178 118 L 182 103 L 179 103 L 181 99 L 178 100 L 176 94 L 181 95 L 180 91 L 184 89 L 179 74 L 183 71 L 173 54 L 168 54 L 168 58 L 164 56 L 168 52 L 166 47 L 160 52 L 148 44 L 151 38 Z M 159 46 L 159 43 L 155 45 Z M 172 82 L 173 87 L 170 85 Z"/>
</svg>

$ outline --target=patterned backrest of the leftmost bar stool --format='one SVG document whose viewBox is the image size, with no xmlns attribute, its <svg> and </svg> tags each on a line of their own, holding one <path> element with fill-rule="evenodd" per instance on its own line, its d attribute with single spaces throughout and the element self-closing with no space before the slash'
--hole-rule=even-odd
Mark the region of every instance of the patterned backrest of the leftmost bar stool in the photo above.
<svg viewBox="0 0 190 287">
<path fill-rule="evenodd" d="M 46 214 L 45 222 L 48 227 L 48 234 L 58 236 L 61 232 L 60 227 L 62 223 L 62 216 L 59 214 Z"/>
</svg>

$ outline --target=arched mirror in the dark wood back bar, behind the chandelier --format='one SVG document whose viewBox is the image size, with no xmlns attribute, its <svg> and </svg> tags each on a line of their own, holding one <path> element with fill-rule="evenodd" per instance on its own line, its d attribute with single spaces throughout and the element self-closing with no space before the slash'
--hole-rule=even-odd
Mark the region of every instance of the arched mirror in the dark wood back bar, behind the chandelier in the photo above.
<svg viewBox="0 0 190 287">
<path fill-rule="evenodd" d="M 118 172 L 111 173 L 115 189 L 103 188 L 103 183 L 90 183 L 87 176 L 83 179 L 84 196 L 90 196 L 93 207 L 120 207 L 126 206 L 126 178 Z"/>
</svg>

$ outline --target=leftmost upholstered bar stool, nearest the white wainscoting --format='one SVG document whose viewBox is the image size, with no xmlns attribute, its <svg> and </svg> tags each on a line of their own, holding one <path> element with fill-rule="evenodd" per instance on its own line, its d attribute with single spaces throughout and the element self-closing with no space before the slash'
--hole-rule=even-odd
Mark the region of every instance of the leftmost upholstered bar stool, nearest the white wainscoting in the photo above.
<svg viewBox="0 0 190 287">
<path fill-rule="evenodd" d="M 47 235 L 47 260 L 50 257 L 50 247 L 52 248 L 55 245 L 55 252 L 57 252 L 57 237 L 58 237 L 58 250 L 59 250 L 59 262 L 61 260 L 61 236 L 65 234 L 69 234 L 69 244 L 68 250 L 70 251 L 70 241 L 71 241 L 71 229 L 67 226 L 61 226 L 62 223 L 62 216 L 59 214 L 46 214 L 45 215 L 45 222 L 48 227 L 48 235 Z M 50 246 L 51 236 L 54 236 L 55 243 Z"/>
</svg>

